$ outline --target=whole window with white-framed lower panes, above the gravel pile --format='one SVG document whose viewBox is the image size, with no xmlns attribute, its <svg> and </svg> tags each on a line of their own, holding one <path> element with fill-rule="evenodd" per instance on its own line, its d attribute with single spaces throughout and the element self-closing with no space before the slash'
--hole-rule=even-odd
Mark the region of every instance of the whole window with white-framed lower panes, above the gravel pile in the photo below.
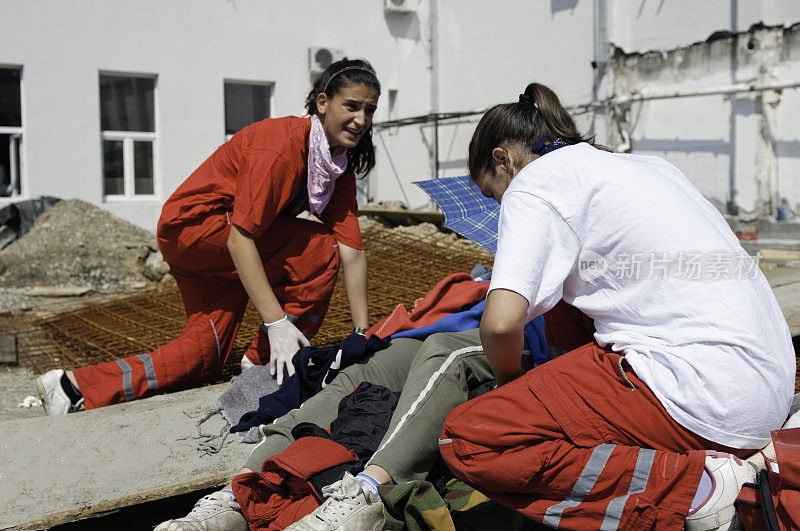
<svg viewBox="0 0 800 531">
<path fill-rule="evenodd" d="M 105 196 L 155 194 L 155 91 L 153 77 L 100 75 Z"/>
</svg>

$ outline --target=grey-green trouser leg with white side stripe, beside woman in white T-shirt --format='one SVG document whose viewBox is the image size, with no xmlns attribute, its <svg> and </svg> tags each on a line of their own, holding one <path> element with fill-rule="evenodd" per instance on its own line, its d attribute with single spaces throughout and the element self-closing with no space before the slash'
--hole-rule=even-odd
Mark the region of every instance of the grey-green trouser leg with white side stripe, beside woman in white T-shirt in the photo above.
<svg viewBox="0 0 800 531">
<path fill-rule="evenodd" d="M 365 473 L 380 467 L 395 482 L 424 479 L 438 457 L 447 414 L 467 401 L 469 389 L 493 378 L 478 330 L 434 334 L 411 364 L 395 413 Z M 386 478 L 375 479 L 384 483 Z"/>
</svg>

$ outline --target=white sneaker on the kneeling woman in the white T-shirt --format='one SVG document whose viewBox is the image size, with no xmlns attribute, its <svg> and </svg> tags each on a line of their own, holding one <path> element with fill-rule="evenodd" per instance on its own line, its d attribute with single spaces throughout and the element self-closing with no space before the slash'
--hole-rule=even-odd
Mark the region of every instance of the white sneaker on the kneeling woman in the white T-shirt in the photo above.
<svg viewBox="0 0 800 531">
<path fill-rule="evenodd" d="M 706 452 L 706 470 L 711 475 L 711 495 L 703 505 L 686 517 L 687 531 L 738 530 L 733 502 L 742 485 L 754 483 L 756 467 L 736 456 L 722 452 Z"/>
</svg>

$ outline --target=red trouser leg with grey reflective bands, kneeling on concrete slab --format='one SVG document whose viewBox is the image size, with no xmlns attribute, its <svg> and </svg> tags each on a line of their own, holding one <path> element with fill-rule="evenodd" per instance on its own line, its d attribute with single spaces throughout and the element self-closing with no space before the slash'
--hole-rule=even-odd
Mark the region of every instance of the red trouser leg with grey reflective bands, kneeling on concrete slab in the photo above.
<svg viewBox="0 0 800 531">
<path fill-rule="evenodd" d="M 229 233 L 225 215 L 208 216 L 197 226 L 159 222 L 159 247 L 180 290 L 186 328 L 153 352 L 76 369 L 74 380 L 87 408 L 185 389 L 216 377 L 247 305 L 227 250 Z"/>
</svg>

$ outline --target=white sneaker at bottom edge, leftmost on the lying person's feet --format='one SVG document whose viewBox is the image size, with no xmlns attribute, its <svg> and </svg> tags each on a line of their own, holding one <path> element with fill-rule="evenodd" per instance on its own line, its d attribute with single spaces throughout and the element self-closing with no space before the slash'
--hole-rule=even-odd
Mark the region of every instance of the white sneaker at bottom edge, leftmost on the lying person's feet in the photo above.
<svg viewBox="0 0 800 531">
<path fill-rule="evenodd" d="M 247 521 L 236 500 L 217 491 L 200 498 L 183 518 L 162 522 L 155 531 L 247 531 Z"/>
</svg>

